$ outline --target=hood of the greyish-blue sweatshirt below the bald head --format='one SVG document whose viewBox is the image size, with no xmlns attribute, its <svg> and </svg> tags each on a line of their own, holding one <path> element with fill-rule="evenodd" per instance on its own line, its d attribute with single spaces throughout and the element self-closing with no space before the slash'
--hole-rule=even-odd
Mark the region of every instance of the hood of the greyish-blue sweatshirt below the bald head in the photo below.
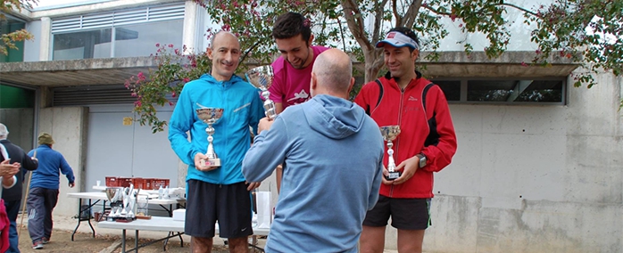
<svg viewBox="0 0 623 253">
<path fill-rule="evenodd" d="M 359 105 L 335 96 L 319 94 L 310 101 L 304 117 L 311 129 L 331 139 L 344 139 L 361 130 L 365 111 Z"/>
</svg>

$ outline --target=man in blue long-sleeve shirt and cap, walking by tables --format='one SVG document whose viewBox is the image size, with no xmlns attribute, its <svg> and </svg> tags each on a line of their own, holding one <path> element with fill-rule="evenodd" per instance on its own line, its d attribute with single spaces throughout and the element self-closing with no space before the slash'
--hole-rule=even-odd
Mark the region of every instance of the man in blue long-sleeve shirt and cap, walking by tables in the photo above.
<svg viewBox="0 0 623 253">
<path fill-rule="evenodd" d="M 41 133 L 39 146 L 29 152 L 33 156 L 37 151 L 39 167 L 32 174 L 30 192 L 26 202 L 29 215 L 29 234 L 32 249 L 43 249 L 43 245 L 52 236 L 52 210 L 58 201 L 60 173 L 67 176 L 70 187 L 76 185 L 73 170 L 59 151 L 52 149 L 52 135 Z"/>
</svg>

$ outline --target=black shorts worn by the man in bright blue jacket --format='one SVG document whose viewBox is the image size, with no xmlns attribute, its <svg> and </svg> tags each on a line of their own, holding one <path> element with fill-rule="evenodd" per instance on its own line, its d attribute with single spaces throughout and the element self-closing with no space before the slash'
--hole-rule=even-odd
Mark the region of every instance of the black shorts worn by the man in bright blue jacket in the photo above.
<svg viewBox="0 0 623 253">
<path fill-rule="evenodd" d="M 244 182 L 210 184 L 188 180 L 184 233 L 212 238 L 219 221 L 221 238 L 240 238 L 253 234 L 251 193 Z"/>
</svg>

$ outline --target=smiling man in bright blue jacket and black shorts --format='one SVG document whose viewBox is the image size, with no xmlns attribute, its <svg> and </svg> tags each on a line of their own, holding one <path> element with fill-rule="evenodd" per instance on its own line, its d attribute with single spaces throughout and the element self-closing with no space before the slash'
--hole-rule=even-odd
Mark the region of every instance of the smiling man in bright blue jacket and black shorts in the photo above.
<svg viewBox="0 0 623 253">
<path fill-rule="evenodd" d="M 193 252 L 210 252 L 218 220 L 229 252 L 246 252 L 247 238 L 253 234 L 250 191 L 260 183 L 245 182 L 242 159 L 251 145 L 249 126 L 257 131 L 264 109 L 258 89 L 234 75 L 241 54 L 237 37 L 220 31 L 212 37 L 207 53 L 211 74 L 184 86 L 170 118 L 171 148 L 188 165 L 184 233 L 191 236 Z M 195 112 L 202 106 L 223 109 L 222 117 L 212 125 L 220 167 L 202 163 L 207 158 L 208 125 Z"/>
</svg>

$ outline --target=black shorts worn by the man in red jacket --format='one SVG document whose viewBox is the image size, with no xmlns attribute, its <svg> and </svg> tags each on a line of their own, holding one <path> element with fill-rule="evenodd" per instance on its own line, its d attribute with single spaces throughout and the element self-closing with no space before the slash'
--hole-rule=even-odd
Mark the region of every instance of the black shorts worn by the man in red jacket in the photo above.
<svg viewBox="0 0 623 253">
<path fill-rule="evenodd" d="M 430 199 L 395 199 L 383 195 L 363 220 L 363 225 L 386 226 L 392 216 L 392 226 L 404 230 L 425 230 L 430 220 Z"/>
</svg>

